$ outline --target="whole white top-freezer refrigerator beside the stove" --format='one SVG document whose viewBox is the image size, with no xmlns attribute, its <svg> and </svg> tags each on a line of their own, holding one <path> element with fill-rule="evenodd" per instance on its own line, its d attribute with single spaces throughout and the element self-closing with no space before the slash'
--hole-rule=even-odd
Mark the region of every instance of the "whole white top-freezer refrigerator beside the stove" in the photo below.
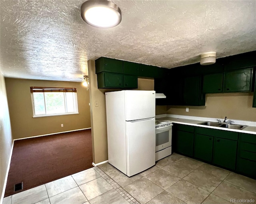
<svg viewBox="0 0 256 204">
<path fill-rule="evenodd" d="M 106 92 L 108 163 L 128 177 L 155 165 L 155 91 Z"/>
</svg>

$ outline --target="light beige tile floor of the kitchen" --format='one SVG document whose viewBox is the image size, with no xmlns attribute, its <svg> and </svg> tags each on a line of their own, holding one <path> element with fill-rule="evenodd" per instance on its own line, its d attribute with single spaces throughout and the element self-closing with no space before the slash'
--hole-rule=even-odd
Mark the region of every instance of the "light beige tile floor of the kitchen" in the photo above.
<svg viewBox="0 0 256 204">
<path fill-rule="evenodd" d="M 256 180 L 174 153 L 130 178 L 105 163 L 8 196 L 3 204 L 236 203 L 232 199 L 256 203 Z"/>
</svg>

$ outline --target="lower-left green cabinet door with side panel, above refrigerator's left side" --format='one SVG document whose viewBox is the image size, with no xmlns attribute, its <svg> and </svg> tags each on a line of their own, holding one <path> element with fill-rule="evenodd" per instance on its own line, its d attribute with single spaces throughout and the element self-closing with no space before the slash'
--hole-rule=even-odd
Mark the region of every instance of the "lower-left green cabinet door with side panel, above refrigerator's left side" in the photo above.
<svg viewBox="0 0 256 204">
<path fill-rule="evenodd" d="M 122 88 L 123 75 L 101 72 L 97 74 L 98 88 Z"/>
</svg>

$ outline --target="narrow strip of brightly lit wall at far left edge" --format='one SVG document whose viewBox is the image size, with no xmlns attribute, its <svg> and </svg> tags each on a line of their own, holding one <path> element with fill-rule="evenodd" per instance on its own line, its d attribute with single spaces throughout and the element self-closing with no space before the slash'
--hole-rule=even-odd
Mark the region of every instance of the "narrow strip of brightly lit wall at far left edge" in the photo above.
<svg viewBox="0 0 256 204">
<path fill-rule="evenodd" d="M 4 196 L 4 180 L 12 151 L 12 132 L 4 76 L 0 72 L 0 198 Z"/>
</svg>

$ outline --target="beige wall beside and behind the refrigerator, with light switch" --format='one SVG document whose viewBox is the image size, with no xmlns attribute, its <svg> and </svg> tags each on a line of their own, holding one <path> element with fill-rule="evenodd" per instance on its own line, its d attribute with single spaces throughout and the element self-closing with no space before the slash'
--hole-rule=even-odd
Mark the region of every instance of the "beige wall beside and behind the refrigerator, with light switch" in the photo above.
<svg viewBox="0 0 256 204">
<path fill-rule="evenodd" d="M 107 125 L 106 125 L 106 103 L 105 92 L 118 89 L 98 89 L 97 75 L 95 74 L 95 61 L 88 61 L 90 80 L 90 111 L 92 124 L 92 151 L 95 164 L 108 160 Z M 153 79 L 138 79 L 138 90 L 154 90 Z M 95 106 L 95 102 L 99 106 Z"/>
</svg>

